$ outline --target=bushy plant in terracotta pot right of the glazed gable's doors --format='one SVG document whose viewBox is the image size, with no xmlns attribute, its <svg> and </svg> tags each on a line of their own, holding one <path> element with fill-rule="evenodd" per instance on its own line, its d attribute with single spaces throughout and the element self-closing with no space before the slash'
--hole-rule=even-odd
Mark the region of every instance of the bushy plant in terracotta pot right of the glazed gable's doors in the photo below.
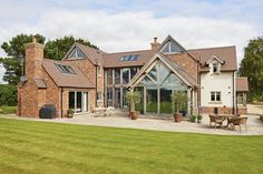
<svg viewBox="0 0 263 174">
<path fill-rule="evenodd" d="M 175 122 L 181 122 L 183 120 L 183 113 L 179 111 L 182 111 L 187 103 L 187 94 L 184 91 L 175 91 L 172 93 L 171 98 Z"/>
</svg>

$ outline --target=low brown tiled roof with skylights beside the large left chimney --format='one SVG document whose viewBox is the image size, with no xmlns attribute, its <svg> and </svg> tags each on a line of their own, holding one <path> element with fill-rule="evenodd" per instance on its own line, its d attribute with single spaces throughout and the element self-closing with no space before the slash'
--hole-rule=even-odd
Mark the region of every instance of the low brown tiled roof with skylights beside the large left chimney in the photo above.
<svg viewBox="0 0 263 174">
<path fill-rule="evenodd" d="M 59 71 L 56 64 L 70 65 L 75 73 L 62 73 L 61 71 Z M 95 85 L 82 73 L 82 71 L 80 71 L 78 66 L 70 64 L 70 61 L 61 62 L 45 59 L 42 62 L 42 66 L 58 86 L 82 89 L 95 88 Z"/>
</svg>

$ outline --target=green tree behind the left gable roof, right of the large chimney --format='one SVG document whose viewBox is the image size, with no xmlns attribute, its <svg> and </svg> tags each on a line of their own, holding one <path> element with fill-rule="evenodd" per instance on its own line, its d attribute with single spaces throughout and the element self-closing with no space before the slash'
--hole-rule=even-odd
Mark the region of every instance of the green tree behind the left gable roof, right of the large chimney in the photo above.
<svg viewBox="0 0 263 174">
<path fill-rule="evenodd" d="M 64 38 L 56 39 L 53 41 L 48 41 L 45 47 L 45 58 L 61 60 L 64 55 L 68 52 L 75 42 L 79 42 L 84 45 L 89 45 L 91 48 L 98 49 L 96 45 L 91 44 L 89 41 L 84 39 L 75 39 L 72 35 L 66 35 Z"/>
</svg>

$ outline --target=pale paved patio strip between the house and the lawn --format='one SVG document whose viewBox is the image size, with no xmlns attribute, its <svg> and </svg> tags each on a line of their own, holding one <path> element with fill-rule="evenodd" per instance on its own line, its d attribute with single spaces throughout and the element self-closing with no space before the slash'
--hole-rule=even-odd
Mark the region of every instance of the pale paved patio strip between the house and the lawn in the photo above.
<svg viewBox="0 0 263 174">
<path fill-rule="evenodd" d="M 4 115 L 1 115 L 4 116 Z M 192 133 L 205 133 L 205 134 L 224 134 L 224 135 L 263 135 L 263 122 L 260 121 L 256 115 L 247 115 L 247 131 L 242 126 L 242 132 L 236 126 L 235 131 L 230 129 L 213 129 L 210 127 L 208 115 L 204 115 L 201 124 L 183 121 L 175 123 L 173 120 L 155 120 L 155 119 L 138 119 L 130 120 L 128 116 L 111 115 L 108 117 L 96 117 L 91 114 L 76 115 L 72 119 L 53 119 L 53 120 L 40 120 L 40 119 L 25 119 L 16 115 L 9 115 L 4 117 L 12 117 L 19 120 L 43 121 L 43 122 L 57 122 L 69 124 L 86 124 L 98 126 L 113 126 L 113 127 L 127 127 L 127 129 L 143 129 L 143 130 L 157 130 L 157 131 L 171 131 L 171 132 L 192 132 Z"/>
</svg>

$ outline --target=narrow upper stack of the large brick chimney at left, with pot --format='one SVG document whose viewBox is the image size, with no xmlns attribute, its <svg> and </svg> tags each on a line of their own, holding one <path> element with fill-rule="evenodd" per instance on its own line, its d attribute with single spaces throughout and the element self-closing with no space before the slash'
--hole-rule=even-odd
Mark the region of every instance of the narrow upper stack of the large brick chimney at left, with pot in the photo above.
<svg viewBox="0 0 263 174">
<path fill-rule="evenodd" d="M 43 44 L 38 43 L 36 37 L 32 37 L 31 43 L 26 43 L 26 73 L 28 79 L 42 78 Z"/>
</svg>

